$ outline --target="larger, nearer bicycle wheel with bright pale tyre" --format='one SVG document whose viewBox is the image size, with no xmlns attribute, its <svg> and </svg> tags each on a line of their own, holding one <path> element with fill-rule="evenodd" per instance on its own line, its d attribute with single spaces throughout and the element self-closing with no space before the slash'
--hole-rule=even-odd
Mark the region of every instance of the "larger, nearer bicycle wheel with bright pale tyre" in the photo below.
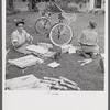
<svg viewBox="0 0 110 110">
<path fill-rule="evenodd" d="M 69 44 L 73 40 L 73 31 L 67 24 L 58 23 L 52 28 L 50 38 L 55 46 Z"/>
</svg>

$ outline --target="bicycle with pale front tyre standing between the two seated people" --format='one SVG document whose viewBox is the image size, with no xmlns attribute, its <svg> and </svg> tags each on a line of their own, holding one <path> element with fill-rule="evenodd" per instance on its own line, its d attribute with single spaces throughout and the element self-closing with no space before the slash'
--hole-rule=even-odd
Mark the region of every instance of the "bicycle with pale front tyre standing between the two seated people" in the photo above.
<svg viewBox="0 0 110 110">
<path fill-rule="evenodd" d="M 58 6 L 57 8 L 62 11 L 58 14 L 58 19 L 59 19 L 58 23 L 55 23 L 52 26 L 50 15 L 47 18 L 42 16 L 36 21 L 34 28 L 41 34 L 48 33 L 50 40 L 55 46 L 62 46 L 62 45 L 69 44 L 70 41 L 73 40 L 74 33 L 69 24 L 72 22 L 75 22 L 77 16 L 76 14 L 74 14 L 73 16 L 68 16 L 67 13 L 64 10 L 62 10 Z M 63 23 L 64 19 L 67 20 L 67 23 Z M 41 23 L 41 29 L 43 29 L 44 31 L 40 31 L 37 29 L 38 23 Z"/>
</svg>

